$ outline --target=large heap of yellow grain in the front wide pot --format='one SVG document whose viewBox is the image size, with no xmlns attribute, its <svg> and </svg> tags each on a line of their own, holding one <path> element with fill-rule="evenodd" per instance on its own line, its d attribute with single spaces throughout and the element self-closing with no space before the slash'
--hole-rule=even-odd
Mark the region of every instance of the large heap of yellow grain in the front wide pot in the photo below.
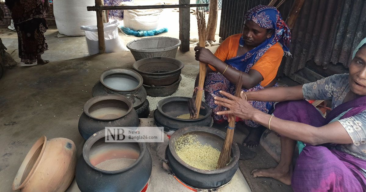
<svg viewBox="0 0 366 192">
<path fill-rule="evenodd" d="M 177 155 L 188 165 L 197 169 L 216 169 L 220 151 L 212 146 L 202 145 L 193 135 L 180 136 L 175 142 Z"/>
</svg>

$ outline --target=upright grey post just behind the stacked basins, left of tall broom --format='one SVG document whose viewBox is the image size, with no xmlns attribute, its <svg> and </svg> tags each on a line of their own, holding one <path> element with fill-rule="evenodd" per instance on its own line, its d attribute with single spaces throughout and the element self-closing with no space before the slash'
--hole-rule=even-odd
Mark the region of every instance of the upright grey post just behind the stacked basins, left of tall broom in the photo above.
<svg viewBox="0 0 366 192">
<path fill-rule="evenodd" d="M 189 4 L 190 0 L 179 0 L 179 4 Z M 189 51 L 189 35 L 190 35 L 190 9 L 179 8 L 179 50 L 182 52 Z"/>
</svg>

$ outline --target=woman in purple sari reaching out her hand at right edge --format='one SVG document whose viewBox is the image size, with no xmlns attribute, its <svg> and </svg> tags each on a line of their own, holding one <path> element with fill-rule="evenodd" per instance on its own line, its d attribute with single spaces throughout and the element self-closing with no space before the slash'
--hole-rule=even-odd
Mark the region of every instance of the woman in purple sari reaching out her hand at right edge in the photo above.
<svg viewBox="0 0 366 192">
<path fill-rule="evenodd" d="M 329 76 L 295 87 L 242 92 L 241 98 L 221 92 L 218 105 L 281 135 L 277 167 L 254 169 L 254 177 L 272 177 L 294 191 L 366 191 L 366 38 L 353 53 L 349 74 Z M 323 118 L 304 99 L 332 99 L 332 111 Z M 247 101 L 273 101 L 273 115 L 254 109 Z M 295 168 L 296 141 L 305 143 Z M 299 145 L 301 146 L 301 145 Z"/>
</svg>

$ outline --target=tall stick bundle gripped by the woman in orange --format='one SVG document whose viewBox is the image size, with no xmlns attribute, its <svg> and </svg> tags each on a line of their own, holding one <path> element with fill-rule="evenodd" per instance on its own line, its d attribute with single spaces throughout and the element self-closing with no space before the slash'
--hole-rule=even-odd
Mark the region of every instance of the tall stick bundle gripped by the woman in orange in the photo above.
<svg viewBox="0 0 366 192">
<path fill-rule="evenodd" d="M 198 40 L 199 46 L 205 47 L 206 44 L 206 14 L 203 9 L 197 7 L 196 11 L 197 18 L 197 26 L 198 26 Z M 197 115 L 195 118 L 199 116 L 199 110 L 201 109 L 202 102 L 202 93 L 203 93 L 203 84 L 205 84 L 206 78 L 206 69 L 207 65 L 205 63 L 199 62 L 199 79 L 198 79 L 198 87 L 195 89 L 197 91 L 196 97 L 196 109 Z"/>
</svg>

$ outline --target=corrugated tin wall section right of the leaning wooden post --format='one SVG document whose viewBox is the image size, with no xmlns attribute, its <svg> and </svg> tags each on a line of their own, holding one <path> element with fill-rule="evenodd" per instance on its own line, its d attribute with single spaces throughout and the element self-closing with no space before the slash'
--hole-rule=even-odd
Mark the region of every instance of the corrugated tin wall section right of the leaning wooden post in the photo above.
<svg viewBox="0 0 366 192">
<path fill-rule="evenodd" d="M 365 38 L 365 0 L 306 0 L 292 30 L 292 58 L 280 72 L 290 76 L 313 60 L 324 69 L 351 61 L 352 51 Z"/>
</svg>

